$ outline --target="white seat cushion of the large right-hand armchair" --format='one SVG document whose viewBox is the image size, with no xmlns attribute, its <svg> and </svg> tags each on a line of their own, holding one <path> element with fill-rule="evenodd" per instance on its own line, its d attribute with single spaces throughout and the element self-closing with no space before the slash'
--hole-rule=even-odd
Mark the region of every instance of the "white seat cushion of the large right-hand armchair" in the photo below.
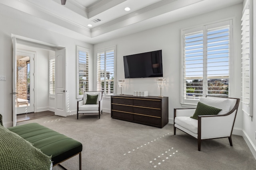
<svg viewBox="0 0 256 170">
<path fill-rule="evenodd" d="M 198 120 L 197 119 L 192 119 L 187 116 L 178 116 L 175 117 L 174 122 L 177 123 L 178 125 L 184 127 L 185 129 L 189 129 L 193 133 L 198 132 Z"/>
</svg>

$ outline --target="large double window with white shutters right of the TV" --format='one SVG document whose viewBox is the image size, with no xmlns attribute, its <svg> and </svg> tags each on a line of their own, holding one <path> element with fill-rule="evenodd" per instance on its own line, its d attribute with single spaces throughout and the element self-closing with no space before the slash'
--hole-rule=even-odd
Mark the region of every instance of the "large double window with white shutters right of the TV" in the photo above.
<svg viewBox="0 0 256 170">
<path fill-rule="evenodd" d="M 182 104 L 230 96 L 232 20 L 182 30 Z"/>
</svg>

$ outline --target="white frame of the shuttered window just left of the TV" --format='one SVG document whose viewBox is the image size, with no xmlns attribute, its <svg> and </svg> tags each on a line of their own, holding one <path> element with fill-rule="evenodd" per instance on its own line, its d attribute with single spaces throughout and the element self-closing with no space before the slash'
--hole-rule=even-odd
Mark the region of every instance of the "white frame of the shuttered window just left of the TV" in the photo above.
<svg viewBox="0 0 256 170">
<path fill-rule="evenodd" d="M 106 75 L 104 74 L 104 91 L 103 91 L 103 97 L 104 98 L 110 98 L 112 95 L 115 94 L 116 92 L 116 46 L 111 46 L 103 49 L 98 49 L 96 50 L 96 89 L 97 91 L 99 90 L 98 88 L 98 54 L 99 53 L 104 53 L 105 60 L 106 60 L 106 51 L 108 50 L 113 50 L 114 51 L 114 63 L 113 63 L 113 69 L 114 69 L 114 80 L 113 80 L 113 93 L 111 94 L 106 94 Z M 106 68 L 104 69 L 104 72 L 106 72 Z"/>
</svg>

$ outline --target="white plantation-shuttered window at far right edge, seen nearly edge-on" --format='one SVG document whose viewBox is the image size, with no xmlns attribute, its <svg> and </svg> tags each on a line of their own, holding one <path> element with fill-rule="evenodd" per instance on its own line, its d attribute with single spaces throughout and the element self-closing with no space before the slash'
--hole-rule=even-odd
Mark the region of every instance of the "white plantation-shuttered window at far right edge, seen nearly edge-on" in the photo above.
<svg viewBox="0 0 256 170">
<path fill-rule="evenodd" d="M 242 16 L 242 110 L 246 115 L 252 116 L 252 49 L 250 47 L 250 10 L 249 6 L 243 12 Z"/>
</svg>

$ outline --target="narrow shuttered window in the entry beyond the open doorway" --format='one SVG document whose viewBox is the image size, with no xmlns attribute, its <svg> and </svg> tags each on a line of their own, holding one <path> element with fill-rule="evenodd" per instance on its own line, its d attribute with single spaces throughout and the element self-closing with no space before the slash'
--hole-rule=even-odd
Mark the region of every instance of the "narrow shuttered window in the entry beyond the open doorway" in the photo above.
<svg viewBox="0 0 256 170">
<path fill-rule="evenodd" d="M 49 97 L 55 97 L 55 57 L 49 59 Z"/>
</svg>

